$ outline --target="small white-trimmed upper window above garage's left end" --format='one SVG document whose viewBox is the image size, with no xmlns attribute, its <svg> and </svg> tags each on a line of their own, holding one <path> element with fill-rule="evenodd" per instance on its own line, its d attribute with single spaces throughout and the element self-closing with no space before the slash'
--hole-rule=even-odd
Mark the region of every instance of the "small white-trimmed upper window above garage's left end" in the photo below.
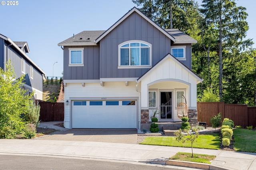
<svg viewBox="0 0 256 170">
<path fill-rule="evenodd" d="M 84 48 L 68 48 L 68 66 L 84 66 Z"/>
</svg>

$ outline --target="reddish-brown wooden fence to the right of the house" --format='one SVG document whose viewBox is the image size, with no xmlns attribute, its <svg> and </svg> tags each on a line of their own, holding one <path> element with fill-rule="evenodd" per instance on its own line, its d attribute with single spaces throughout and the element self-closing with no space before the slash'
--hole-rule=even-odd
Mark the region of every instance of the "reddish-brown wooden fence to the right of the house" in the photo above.
<svg viewBox="0 0 256 170">
<path fill-rule="evenodd" d="M 210 118 L 221 113 L 223 118 L 232 119 L 235 125 L 256 127 L 256 107 L 224 102 L 197 102 L 198 121 L 211 126 Z"/>
</svg>

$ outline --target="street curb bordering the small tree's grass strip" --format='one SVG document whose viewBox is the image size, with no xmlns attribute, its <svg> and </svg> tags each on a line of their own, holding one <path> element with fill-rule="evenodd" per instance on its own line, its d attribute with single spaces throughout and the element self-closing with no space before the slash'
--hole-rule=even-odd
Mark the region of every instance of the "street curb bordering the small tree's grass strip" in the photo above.
<svg viewBox="0 0 256 170">
<path fill-rule="evenodd" d="M 202 170 L 230 170 L 230 169 L 222 168 L 220 166 L 213 166 L 211 164 L 188 162 L 188 161 L 181 161 L 181 160 L 166 160 L 165 164 L 172 165 L 172 166 L 183 166 L 187 168 L 196 168 L 196 169 L 202 169 Z"/>
</svg>

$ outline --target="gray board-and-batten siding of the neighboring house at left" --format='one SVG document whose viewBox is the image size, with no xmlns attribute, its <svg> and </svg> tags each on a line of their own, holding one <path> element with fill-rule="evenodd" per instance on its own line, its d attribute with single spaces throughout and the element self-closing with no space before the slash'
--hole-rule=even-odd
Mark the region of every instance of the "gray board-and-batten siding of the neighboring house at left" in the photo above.
<svg viewBox="0 0 256 170">
<path fill-rule="evenodd" d="M 25 60 L 25 80 L 24 83 L 32 88 L 43 91 L 43 77 L 42 72 L 37 70 L 32 63 L 30 63 L 15 47 L 8 46 L 4 39 L 0 38 L 0 66 L 5 68 L 7 61 L 11 61 L 14 65 L 14 72 L 16 78 L 19 78 L 22 74 L 22 59 Z M 30 66 L 32 66 L 33 78 L 31 78 Z"/>
</svg>

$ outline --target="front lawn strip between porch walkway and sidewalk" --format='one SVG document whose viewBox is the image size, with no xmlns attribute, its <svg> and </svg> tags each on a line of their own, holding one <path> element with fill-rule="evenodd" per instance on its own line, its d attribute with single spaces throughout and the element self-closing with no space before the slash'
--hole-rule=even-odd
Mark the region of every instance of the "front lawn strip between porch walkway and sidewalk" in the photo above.
<svg viewBox="0 0 256 170">
<path fill-rule="evenodd" d="M 175 137 L 146 137 L 142 145 L 160 145 L 169 147 L 191 147 L 191 142 L 186 141 L 185 143 L 178 142 Z M 193 148 L 202 149 L 219 149 L 220 137 L 218 133 L 212 133 L 211 135 L 199 135 L 196 142 L 193 143 Z"/>
</svg>

